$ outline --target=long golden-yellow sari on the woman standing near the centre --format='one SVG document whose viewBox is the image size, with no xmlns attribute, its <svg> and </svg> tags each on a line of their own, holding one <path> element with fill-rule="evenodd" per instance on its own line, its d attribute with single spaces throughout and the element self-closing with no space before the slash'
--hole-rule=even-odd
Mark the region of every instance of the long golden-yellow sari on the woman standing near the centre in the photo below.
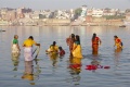
<svg viewBox="0 0 130 87">
<path fill-rule="evenodd" d="M 81 53 L 81 46 L 74 44 L 74 48 L 76 48 L 76 49 L 73 51 L 73 57 L 74 58 L 83 58 L 82 53 Z"/>
</svg>

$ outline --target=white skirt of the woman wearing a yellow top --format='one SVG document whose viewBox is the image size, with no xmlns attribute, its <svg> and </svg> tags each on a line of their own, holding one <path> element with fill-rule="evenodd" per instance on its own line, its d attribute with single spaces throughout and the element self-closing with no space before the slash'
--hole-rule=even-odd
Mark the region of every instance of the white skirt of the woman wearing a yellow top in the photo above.
<svg viewBox="0 0 130 87">
<path fill-rule="evenodd" d="M 25 61 L 32 61 L 32 48 L 31 47 L 24 48 L 24 58 L 25 58 Z"/>
</svg>

